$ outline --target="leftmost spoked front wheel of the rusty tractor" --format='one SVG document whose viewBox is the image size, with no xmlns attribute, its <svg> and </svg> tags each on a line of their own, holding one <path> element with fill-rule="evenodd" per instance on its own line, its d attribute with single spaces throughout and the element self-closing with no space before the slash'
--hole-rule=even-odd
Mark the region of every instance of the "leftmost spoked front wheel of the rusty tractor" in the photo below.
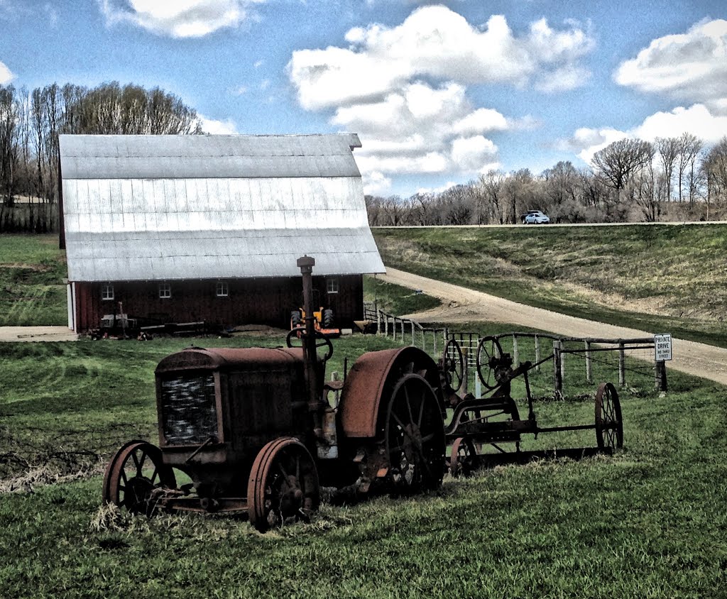
<svg viewBox="0 0 727 599">
<path fill-rule="evenodd" d="M 146 441 L 129 441 L 109 462 L 103 479 L 103 501 L 134 514 L 151 515 L 157 489 L 174 489 L 174 470 L 161 459 L 161 449 Z"/>
</svg>

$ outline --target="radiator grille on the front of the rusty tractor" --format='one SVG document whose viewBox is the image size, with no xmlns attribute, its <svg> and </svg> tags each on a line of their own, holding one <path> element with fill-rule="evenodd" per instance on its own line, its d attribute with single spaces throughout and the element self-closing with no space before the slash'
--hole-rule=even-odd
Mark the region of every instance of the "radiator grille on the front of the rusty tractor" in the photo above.
<svg viewBox="0 0 727 599">
<path fill-rule="evenodd" d="M 212 374 L 175 377 L 161 382 L 164 438 L 170 445 L 204 443 L 217 438 L 217 404 Z"/>
</svg>

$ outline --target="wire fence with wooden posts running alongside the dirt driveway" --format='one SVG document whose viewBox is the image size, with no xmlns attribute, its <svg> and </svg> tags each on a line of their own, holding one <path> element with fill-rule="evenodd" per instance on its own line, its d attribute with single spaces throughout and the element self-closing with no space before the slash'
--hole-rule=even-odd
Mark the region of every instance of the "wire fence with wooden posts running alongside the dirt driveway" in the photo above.
<svg viewBox="0 0 727 599">
<path fill-rule="evenodd" d="M 464 392 L 481 396 L 478 347 L 486 335 L 428 328 L 382 310 L 377 310 L 377 325 L 379 334 L 419 347 L 435 360 L 442 357 L 449 339 L 455 339 L 465 358 Z M 663 361 L 656 360 L 654 337 L 595 339 L 521 331 L 491 337 L 497 339 L 502 353 L 513 358 L 513 368 L 525 362 L 533 365 L 529 382 L 533 392 L 542 397 L 585 395 L 606 381 L 632 394 L 667 390 L 666 368 Z"/>
</svg>

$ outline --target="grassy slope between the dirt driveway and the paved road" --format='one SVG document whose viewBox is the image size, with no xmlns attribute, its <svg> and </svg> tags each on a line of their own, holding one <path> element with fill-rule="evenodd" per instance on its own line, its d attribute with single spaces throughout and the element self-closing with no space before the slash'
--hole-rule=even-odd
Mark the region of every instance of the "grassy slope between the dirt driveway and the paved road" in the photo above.
<svg viewBox="0 0 727 599">
<path fill-rule="evenodd" d="M 395 268 L 727 347 L 723 225 L 377 229 L 374 237 Z"/>
</svg>

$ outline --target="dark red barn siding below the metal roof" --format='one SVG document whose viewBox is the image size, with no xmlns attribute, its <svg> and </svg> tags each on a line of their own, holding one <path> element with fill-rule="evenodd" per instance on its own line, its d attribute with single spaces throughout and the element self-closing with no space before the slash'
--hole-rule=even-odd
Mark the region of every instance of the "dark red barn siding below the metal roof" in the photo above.
<svg viewBox="0 0 727 599">
<path fill-rule="evenodd" d="M 363 318 L 364 278 L 362 275 L 338 276 L 339 291 L 326 292 L 326 278 L 313 277 L 313 287 L 324 307 L 331 307 L 338 326 L 351 326 Z M 226 326 L 268 324 L 287 328 L 292 310 L 300 307 L 300 277 L 226 279 L 229 296 L 217 297 L 216 280 L 167 281 L 172 297 L 161 299 L 159 281 L 111 281 L 114 299 L 102 300 L 101 290 L 108 283 L 76 283 L 76 331 L 100 326 L 105 314 L 124 313 L 135 318 L 150 318 L 161 323 L 206 321 Z"/>
</svg>

